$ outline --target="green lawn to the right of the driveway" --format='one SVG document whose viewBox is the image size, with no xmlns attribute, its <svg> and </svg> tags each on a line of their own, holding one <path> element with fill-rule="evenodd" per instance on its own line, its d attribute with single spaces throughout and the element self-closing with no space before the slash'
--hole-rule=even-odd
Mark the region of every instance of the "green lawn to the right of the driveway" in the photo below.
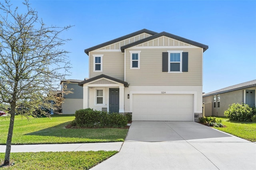
<svg viewBox="0 0 256 170">
<path fill-rule="evenodd" d="M 221 119 L 222 124 L 226 127 L 214 128 L 229 134 L 233 134 L 234 136 L 256 142 L 256 122 L 234 122 L 228 121 L 227 118 L 220 117 L 218 117 L 217 119 Z"/>
</svg>

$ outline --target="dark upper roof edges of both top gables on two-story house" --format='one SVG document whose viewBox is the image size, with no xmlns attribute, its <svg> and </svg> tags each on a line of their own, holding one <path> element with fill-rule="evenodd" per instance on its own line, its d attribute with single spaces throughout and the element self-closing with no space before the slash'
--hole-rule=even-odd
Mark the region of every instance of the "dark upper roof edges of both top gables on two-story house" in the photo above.
<svg viewBox="0 0 256 170">
<path fill-rule="evenodd" d="M 133 42 L 133 43 L 130 43 L 130 44 L 127 44 L 127 45 L 124 45 L 121 47 L 121 50 L 122 52 L 124 52 L 124 49 L 126 48 L 129 48 L 129 47 L 132 47 L 134 45 L 138 45 L 140 43 L 144 43 L 144 42 L 147 42 L 147 41 L 150 41 L 150 40 L 153 40 L 155 38 L 158 38 L 158 37 L 161 37 L 161 36 L 166 36 L 166 37 L 169 37 L 169 38 L 172 38 L 172 39 L 175 39 L 175 40 L 178 40 L 178 41 L 181 41 L 181 42 L 184 42 L 184 43 L 189 43 L 191 45 L 195 45 L 197 47 L 201 47 L 204 49 L 204 51 L 206 51 L 206 49 L 208 49 L 208 45 L 204 45 L 202 43 L 198 43 L 198 42 L 194 42 L 192 40 L 188 40 L 186 38 L 182 38 L 182 37 L 179 37 L 179 36 L 175 36 L 174 34 L 170 34 L 168 32 L 160 32 L 160 33 L 157 33 L 157 32 L 153 32 L 153 31 L 150 31 L 150 30 L 147 30 L 147 29 L 142 29 L 142 30 L 139 30 L 137 32 L 134 32 L 134 33 L 131 33 L 131 34 L 128 34 L 126 36 L 122 36 L 120 38 L 116 38 L 114 40 L 111 40 L 111 41 L 108 41 L 108 42 L 105 42 L 105 43 L 101 43 L 99 45 L 96 45 L 94 47 L 90 47 L 90 48 L 87 48 L 84 50 L 84 52 L 89 55 L 89 52 L 90 51 L 93 51 L 95 49 L 99 49 L 101 47 L 104 47 L 106 45 L 110 45 L 112 43 L 116 43 L 116 42 L 119 42 L 119 41 L 122 41 L 122 40 L 125 40 L 127 38 L 130 38 L 130 37 L 133 37 L 133 36 L 137 36 L 139 34 L 142 34 L 142 33 L 147 33 L 147 34 L 150 34 L 152 36 L 149 36 L 147 38 L 144 38 L 142 40 L 138 40 L 136 42 Z"/>
</svg>

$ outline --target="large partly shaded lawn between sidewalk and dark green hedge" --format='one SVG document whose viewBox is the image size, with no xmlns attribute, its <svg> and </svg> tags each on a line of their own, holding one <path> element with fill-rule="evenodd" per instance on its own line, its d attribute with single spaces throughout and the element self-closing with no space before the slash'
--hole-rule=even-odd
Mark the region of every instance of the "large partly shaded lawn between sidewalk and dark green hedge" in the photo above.
<svg viewBox="0 0 256 170">
<path fill-rule="evenodd" d="M 53 144 L 86 142 L 122 142 L 128 129 L 122 128 L 65 128 L 74 115 L 52 115 L 49 118 L 26 119 L 15 116 L 12 144 Z M 10 119 L 0 117 L 0 144 L 6 144 Z"/>
</svg>

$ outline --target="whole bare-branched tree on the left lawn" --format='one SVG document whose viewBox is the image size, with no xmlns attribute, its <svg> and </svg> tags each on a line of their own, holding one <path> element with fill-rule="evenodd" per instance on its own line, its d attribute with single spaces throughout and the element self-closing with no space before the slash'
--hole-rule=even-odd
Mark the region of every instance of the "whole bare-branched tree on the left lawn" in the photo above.
<svg viewBox="0 0 256 170">
<path fill-rule="evenodd" d="M 28 115 L 42 105 L 54 107 L 62 98 L 56 95 L 59 82 L 70 69 L 68 51 L 61 49 L 68 39 L 60 34 L 72 26 L 46 26 L 27 0 L 23 4 L 26 13 L 19 14 L 10 1 L 0 2 L 0 103 L 10 107 L 4 165 L 10 164 L 16 108 L 27 107 Z"/>
</svg>

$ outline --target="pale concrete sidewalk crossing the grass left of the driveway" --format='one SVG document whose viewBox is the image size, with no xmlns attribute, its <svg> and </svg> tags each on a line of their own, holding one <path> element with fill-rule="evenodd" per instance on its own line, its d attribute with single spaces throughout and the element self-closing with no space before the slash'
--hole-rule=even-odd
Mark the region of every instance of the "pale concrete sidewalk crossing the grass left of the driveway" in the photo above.
<svg viewBox="0 0 256 170">
<path fill-rule="evenodd" d="M 58 152 L 58 151 L 120 151 L 123 142 L 75 143 L 75 144 L 24 144 L 12 145 L 11 152 Z M 5 152 L 6 145 L 0 145 L 0 152 Z"/>
</svg>

